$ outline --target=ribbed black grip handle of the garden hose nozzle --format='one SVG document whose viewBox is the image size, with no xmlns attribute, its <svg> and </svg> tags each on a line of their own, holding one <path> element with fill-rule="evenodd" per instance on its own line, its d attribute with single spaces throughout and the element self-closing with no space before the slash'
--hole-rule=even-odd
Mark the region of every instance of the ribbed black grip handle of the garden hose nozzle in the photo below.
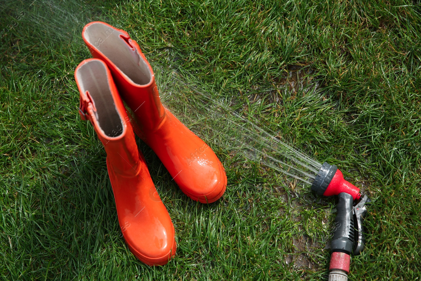
<svg viewBox="0 0 421 281">
<path fill-rule="evenodd" d="M 354 200 L 352 195 L 344 192 L 339 193 L 338 198 L 330 252 L 351 254 L 354 249 L 354 215 L 352 209 Z"/>
</svg>

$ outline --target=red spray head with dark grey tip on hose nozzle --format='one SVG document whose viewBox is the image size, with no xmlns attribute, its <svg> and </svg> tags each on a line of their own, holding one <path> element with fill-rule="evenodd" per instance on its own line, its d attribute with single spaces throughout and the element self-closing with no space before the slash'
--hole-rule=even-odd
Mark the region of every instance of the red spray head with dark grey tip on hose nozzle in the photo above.
<svg viewBox="0 0 421 281">
<path fill-rule="evenodd" d="M 318 195 L 332 196 L 341 192 L 348 193 L 356 199 L 360 199 L 360 189 L 347 182 L 335 165 L 323 163 L 322 168 L 314 179 L 312 190 Z"/>
</svg>

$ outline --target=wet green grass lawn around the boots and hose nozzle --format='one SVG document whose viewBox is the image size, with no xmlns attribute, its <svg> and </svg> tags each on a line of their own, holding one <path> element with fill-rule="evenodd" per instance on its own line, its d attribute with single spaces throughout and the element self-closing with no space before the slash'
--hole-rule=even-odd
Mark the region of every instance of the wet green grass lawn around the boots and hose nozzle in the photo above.
<svg viewBox="0 0 421 281">
<path fill-rule="evenodd" d="M 326 280 L 335 198 L 231 147 L 241 130 L 215 102 L 373 198 L 350 280 L 420 280 L 417 1 L 102 2 L 1 1 L 1 29 L 14 25 L 0 39 L 2 280 Z M 223 198 L 199 204 L 138 140 L 176 228 L 164 267 L 125 245 L 105 151 L 77 112 L 73 73 L 93 20 L 131 34 L 165 103 L 226 168 Z M 300 69 L 317 91 L 285 89 Z"/>
</svg>

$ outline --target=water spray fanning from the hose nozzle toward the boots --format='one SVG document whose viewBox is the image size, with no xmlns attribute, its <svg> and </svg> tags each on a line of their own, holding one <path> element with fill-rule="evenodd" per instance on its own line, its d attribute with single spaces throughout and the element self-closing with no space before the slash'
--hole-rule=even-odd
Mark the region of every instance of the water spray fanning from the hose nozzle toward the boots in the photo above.
<svg viewBox="0 0 421 281">
<path fill-rule="evenodd" d="M 240 115 L 229 107 L 231 101 L 213 99 L 199 82 L 183 75 L 181 68 L 154 67 L 164 104 L 208 143 L 221 146 L 222 137 L 231 152 L 312 184 L 322 164 Z"/>
</svg>

